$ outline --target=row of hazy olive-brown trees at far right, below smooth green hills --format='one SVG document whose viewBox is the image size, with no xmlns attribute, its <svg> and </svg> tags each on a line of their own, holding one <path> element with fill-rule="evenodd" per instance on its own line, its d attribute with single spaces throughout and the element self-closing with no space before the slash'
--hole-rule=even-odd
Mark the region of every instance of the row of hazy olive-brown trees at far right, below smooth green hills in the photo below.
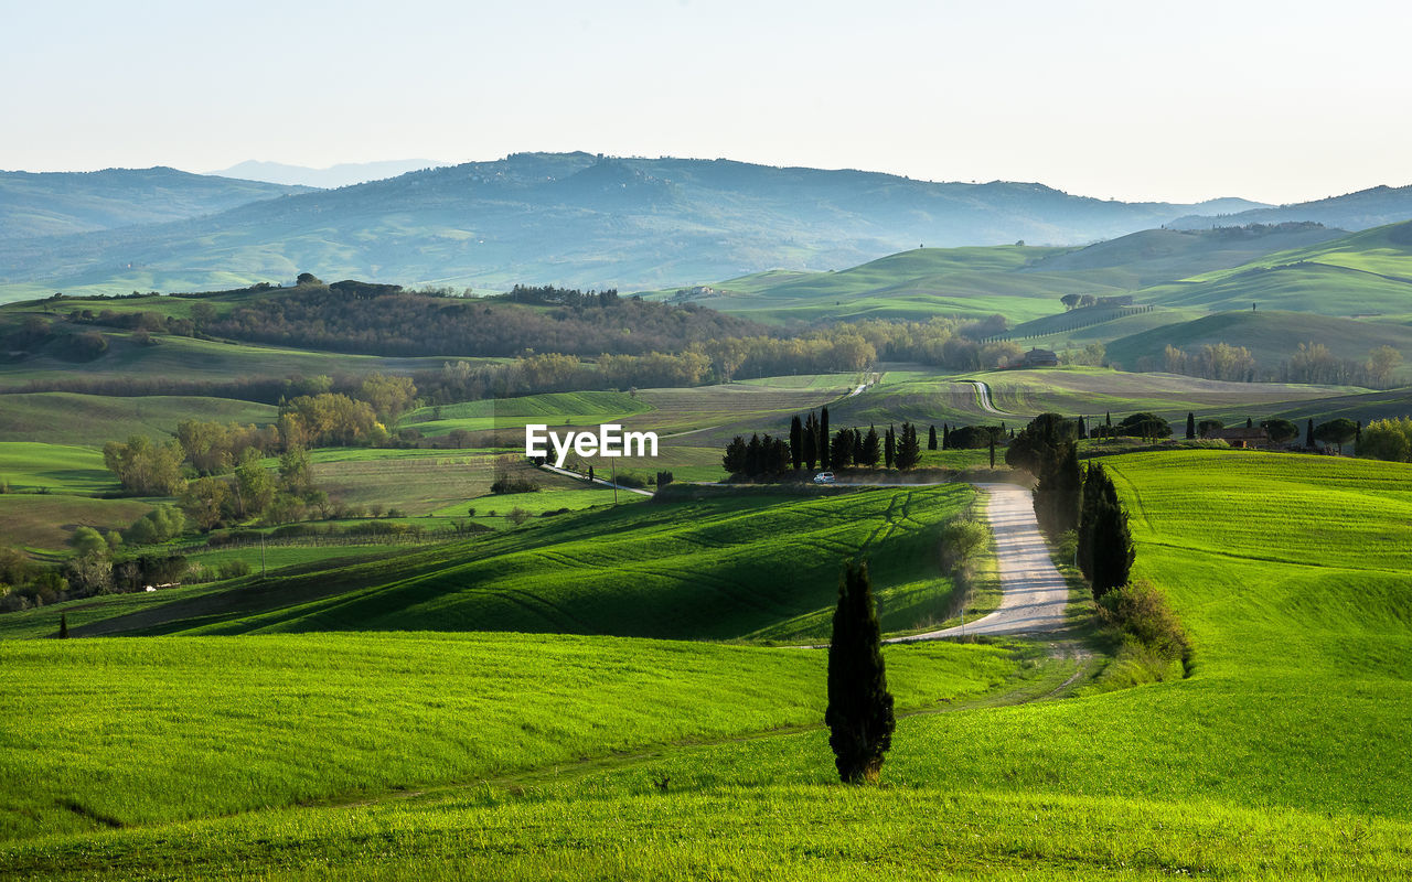
<svg viewBox="0 0 1412 882">
<path fill-rule="evenodd" d="M 1320 382 L 1388 388 L 1402 366 L 1402 353 L 1391 346 L 1368 351 L 1364 361 L 1339 358 L 1323 343 L 1300 343 L 1289 358 L 1274 368 L 1261 368 L 1244 346 L 1207 343 L 1193 353 L 1168 346 L 1163 370 L 1171 374 L 1227 380 L 1233 382 Z M 1138 370 L 1154 370 L 1148 360 L 1138 360 Z"/>
</svg>

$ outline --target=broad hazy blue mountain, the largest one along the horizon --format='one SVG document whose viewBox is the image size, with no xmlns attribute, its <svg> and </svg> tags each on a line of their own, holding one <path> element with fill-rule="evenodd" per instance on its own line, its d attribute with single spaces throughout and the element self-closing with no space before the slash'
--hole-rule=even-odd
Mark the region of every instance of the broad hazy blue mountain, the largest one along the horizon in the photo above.
<svg viewBox="0 0 1412 882">
<path fill-rule="evenodd" d="M 103 174 L 131 176 L 136 198 L 152 186 L 144 176 L 155 172 L 172 174 Z M 226 181 L 186 178 L 206 186 Z M 1388 191 L 1360 217 L 1412 217 L 1409 191 Z M 476 289 L 542 282 L 634 291 L 768 268 L 843 268 L 918 244 L 1073 246 L 1179 217 L 1192 226 L 1271 210 L 1302 219 L 1299 206 L 1272 209 L 1244 199 L 1130 203 L 1039 183 L 935 183 L 875 172 L 586 152 L 515 154 L 268 198 L 284 192 L 253 191 L 257 202 L 167 223 L 0 238 L 0 298 L 222 288 L 288 281 L 304 270 L 323 278 Z M 1341 199 L 1353 205 L 1361 196 Z M 1316 203 L 1319 210 L 1333 210 L 1324 203 Z"/>
</svg>

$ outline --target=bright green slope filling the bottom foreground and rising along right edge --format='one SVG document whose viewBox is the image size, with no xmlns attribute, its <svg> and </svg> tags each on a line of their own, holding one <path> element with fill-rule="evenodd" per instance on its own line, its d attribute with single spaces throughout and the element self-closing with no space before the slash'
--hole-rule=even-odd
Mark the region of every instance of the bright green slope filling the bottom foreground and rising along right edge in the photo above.
<svg viewBox="0 0 1412 882">
<path fill-rule="evenodd" d="M 1241 452 L 1107 463 L 1132 507 L 1137 574 L 1169 590 L 1197 641 L 1190 679 L 902 720 L 877 789 L 830 783 L 810 731 L 21 844 L 0 861 L 278 878 L 330 864 L 371 878 L 1405 876 L 1412 467 Z M 651 783 L 664 775 L 668 793 Z"/>
</svg>

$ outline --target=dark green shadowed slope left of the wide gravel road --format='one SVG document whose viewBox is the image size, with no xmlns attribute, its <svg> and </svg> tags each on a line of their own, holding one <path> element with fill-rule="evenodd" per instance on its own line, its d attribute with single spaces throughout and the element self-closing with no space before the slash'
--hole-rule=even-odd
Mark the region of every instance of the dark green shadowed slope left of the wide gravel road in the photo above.
<svg viewBox="0 0 1412 882">
<path fill-rule="evenodd" d="M 76 634 L 534 631 L 621 636 L 815 639 L 827 634 L 839 560 L 874 560 L 884 627 L 945 618 L 936 526 L 964 485 L 818 498 L 771 494 L 621 505 L 535 519 L 503 535 L 376 563 L 160 593 L 140 610 L 82 604 Z M 788 536 L 781 546 L 779 536 Z M 64 605 L 13 620 L 56 627 Z M 123 614 L 113 617 L 114 612 Z"/>
</svg>

